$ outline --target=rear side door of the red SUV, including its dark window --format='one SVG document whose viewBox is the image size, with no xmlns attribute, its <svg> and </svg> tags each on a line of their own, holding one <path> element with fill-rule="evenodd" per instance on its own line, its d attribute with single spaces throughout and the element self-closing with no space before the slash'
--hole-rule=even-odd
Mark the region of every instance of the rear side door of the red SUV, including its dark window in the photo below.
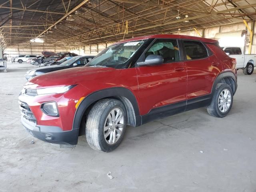
<svg viewBox="0 0 256 192">
<path fill-rule="evenodd" d="M 189 105 L 197 102 L 200 96 L 211 93 L 214 79 L 222 71 L 222 64 L 204 43 L 195 40 L 182 40 L 182 42 L 188 70 L 187 104 Z"/>
</svg>

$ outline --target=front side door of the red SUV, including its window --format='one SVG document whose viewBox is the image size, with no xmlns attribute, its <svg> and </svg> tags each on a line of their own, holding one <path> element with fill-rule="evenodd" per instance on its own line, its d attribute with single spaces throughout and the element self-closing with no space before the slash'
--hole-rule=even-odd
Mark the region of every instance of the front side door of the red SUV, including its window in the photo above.
<svg viewBox="0 0 256 192">
<path fill-rule="evenodd" d="M 170 115 L 166 111 L 184 111 L 187 68 L 180 60 L 182 54 L 177 39 L 156 39 L 139 61 L 145 61 L 151 54 L 162 56 L 164 63 L 155 66 L 136 66 L 141 114 L 150 112 L 153 116 L 166 116 Z"/>
</svg>

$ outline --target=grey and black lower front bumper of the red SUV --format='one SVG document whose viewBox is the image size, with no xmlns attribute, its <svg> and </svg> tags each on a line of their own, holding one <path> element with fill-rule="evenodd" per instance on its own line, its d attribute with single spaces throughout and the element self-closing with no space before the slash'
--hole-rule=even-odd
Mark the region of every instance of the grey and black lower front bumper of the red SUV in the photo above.
<svg viewBox="0 0 256 192">
<path fill-rule="evenodd" d="M 35 138 L 54 144 L 76 145 L 78 142 L 79 129 L 63 131 L 57 126 L 41 126 L 21 117 L 24 128 Z"/>
</svg>

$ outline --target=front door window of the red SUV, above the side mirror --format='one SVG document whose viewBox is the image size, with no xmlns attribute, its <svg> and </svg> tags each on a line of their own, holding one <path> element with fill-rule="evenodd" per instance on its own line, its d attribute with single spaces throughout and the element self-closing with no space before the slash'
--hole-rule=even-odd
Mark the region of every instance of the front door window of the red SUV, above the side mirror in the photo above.
<svg viewBox="0 0 256 192">
<path fill-rule="evenodd" d="M 160 55 L 164 58 L 164 63 L 180 60 L 178 42 L 174 39 L 158 39 L 145 53 L 145 59 L 149 55 Z"/>
</svg>

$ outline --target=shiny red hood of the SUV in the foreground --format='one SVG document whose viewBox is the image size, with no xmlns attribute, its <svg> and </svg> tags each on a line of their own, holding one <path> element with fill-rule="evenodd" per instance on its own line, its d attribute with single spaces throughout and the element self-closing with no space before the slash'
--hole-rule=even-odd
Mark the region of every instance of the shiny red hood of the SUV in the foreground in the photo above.
<svg viewBox="0 0 256 192">
<path fill-rule="evenodd" d="M 26 84 L 31 84 L 32 87 L 82 84 L 90 89 L 97 82 L 102 82 L 102 80 L 108 82 L 116 78 L 120 72 L 120 69 L 106 67 L 76 67 L 36 76 Z"/>
</svg>

